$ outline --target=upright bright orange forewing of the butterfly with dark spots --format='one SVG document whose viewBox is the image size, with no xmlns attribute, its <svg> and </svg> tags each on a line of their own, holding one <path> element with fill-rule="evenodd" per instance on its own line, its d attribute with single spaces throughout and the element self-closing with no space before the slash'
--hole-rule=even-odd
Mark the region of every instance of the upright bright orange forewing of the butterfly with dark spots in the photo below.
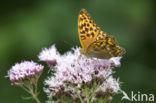
<svg viewBox="0 0 156 103">
<path fill-rule="evenodd" d="M 92 20 L 89 13 L 82 9 L 78 16 L 78 32 L 81 46 L 85 52 L 88 46 L 95 41 L 99 31 L 99 26 Z"/>
</svg>

